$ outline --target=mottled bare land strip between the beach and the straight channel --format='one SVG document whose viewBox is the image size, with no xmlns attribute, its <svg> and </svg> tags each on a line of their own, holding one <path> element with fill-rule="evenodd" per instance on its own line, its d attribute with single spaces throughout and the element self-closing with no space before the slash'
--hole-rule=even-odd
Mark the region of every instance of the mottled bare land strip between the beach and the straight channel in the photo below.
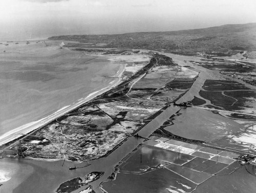
<svg viewBox="0 0 256 193">
<path fill-rule="evenodd" d="M 114 58 L 114 56 L 111 57 Z M 118 58 L 116 56 L 115 60 Z M 155 66 L 159 64 L 156 62 Z M 131 68 L 129 70 L 131 71 Z M 154 67 L 145 77 L 139 76 L 128 82 L 126 86 L 119 86 L 119 89 L 114 89 L 81 106 L 30 135 L 27 141 L 24 140 L 26 141 L 24 146 L 28 150 L 23 155 L 34 158 L 67 158 L 77 161 L 104 156 L 144 125 L 148 117 L 163 108 L 166 105 L 164 98 L 168 97 L 170 102 L 186 91 L 181 89 L 177 92 L 169 89 L 167 93 L 159 89 L 164 88 L 166 83 L 176 77 L 180 78 L 181 75 L 190 77 L 191 74 L 195 77 L 198 73 L 173 65 L 171 62 L 161 67 Z M 159 76 L 162 83 L 156 84 L 148 96 L 138 97 L 143 95 L 145 87 L 152 87 L 151 80 L 156 80 L 155 76 Z M 129 76 L 125 79 L 129 80 Z M 138 96 L 134 95 L 134 88 Z M 162 95 L 162 100 L 157 99 L 158 95 Z M 32 140 L 40 142 L 31 145 Z"/>
</svg>

